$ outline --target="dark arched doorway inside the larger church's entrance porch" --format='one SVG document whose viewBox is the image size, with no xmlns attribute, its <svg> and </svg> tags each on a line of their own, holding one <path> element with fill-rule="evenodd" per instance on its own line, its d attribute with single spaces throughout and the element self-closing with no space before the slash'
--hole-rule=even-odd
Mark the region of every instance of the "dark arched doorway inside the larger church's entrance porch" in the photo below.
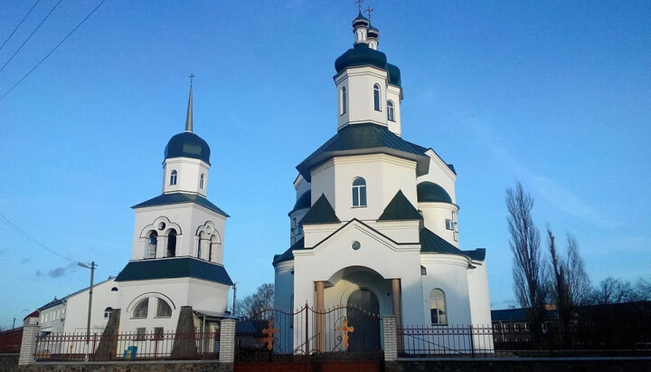
<svg viewBox="0 0 651 372">
<path fill-rule="evenodd" d="M 348 351 L 377 351 L 380 346 L 380 302 L 372 291 L 359 289 L 351 293 L 348 306 L 348 325 L 354 327 L 348 339 Z M 369 316 L 373 314 L 372 316 Z"/>
</svg>

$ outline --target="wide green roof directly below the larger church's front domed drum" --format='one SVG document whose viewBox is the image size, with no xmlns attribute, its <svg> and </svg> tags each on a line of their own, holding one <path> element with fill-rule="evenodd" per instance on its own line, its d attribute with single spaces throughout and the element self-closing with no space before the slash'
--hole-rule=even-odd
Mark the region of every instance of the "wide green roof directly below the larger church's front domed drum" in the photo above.
<svg viewBox="0 0 651 372">
<path fill-rule="evenodd" d="M 310 182 L 310 169 L 332 157 L 382 153 L 416 161 L 416 175 L 422 176 L 429 170 L 429 157 L 425 151 L 427 148 L 402 139 L 382 125 L 349 124 L 303 160 L 297 170 Z"/>
</svg>

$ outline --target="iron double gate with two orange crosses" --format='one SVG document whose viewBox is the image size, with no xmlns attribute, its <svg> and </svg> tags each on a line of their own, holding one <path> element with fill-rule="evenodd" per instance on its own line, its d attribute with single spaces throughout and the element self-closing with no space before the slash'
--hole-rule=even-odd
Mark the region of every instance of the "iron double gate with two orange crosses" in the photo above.
<svg viewBox="0 0 651 372">
<path fill-rule="evenodd" d="M 382 361 L 382 320 L 354 306 L 262 310 L 237 324 L 236 362 Z"/>
</svg>

